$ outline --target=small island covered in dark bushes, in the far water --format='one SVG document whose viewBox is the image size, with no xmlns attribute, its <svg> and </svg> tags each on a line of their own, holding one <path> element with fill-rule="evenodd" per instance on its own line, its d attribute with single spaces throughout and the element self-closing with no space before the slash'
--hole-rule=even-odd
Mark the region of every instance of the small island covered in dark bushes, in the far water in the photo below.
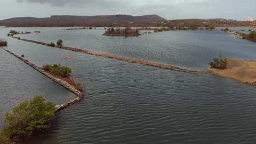
<svg viewBox="0 0 256 144">
<path fill-rule="evenodd" d="M 141 35 L 139 33 L 139 29 L 132 29 L 131 27 L 126 27 L 125 29 L 114 29 L 108 28 L 108 31 L 106 31 L 103 35 L 112 35 L 112 36 L 125 36 L 125 37 L 133 37 L 133 36 L 138 36 Z"/>
</svg>

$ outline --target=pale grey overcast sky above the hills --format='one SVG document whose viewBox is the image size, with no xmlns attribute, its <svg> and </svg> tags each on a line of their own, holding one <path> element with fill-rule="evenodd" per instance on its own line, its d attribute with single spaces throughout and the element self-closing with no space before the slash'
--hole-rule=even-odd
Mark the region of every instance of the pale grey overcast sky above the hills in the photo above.
<svg viewBox="0 0 256 144">
<path fill-rule="evenodd" d="M 50 15 L 150 15 L 167 20 L 256 19 L 255 0 L 1 0 L 0 20 Z"/>
</svg>

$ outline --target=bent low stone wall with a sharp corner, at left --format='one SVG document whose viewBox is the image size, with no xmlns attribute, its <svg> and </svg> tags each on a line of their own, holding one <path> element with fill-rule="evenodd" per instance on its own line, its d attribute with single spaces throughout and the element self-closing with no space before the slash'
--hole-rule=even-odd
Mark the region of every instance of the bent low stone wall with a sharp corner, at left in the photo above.
<svg viewBox="0 0 256 144">
<path fill-rule="evenodd" d="M 3 48 L 3 47 L 2 47 Z M 4 48 L 3 48 L 4 49 Z M 66 81 L 63 81 L 61 79 L 59 79 L 58 77 L 55 77 L 49 73 L 46 73 L 46 71 L 44 71 L 42 68 L 38 67 L 37 65 L 31 63 L 31 62 L 28 62 L 26 59 L 22 58 L 22 57 L 19 57 L 18 55 L 15 55 L 13 52 L 10 52 L 9 50 L 7 49 L 4 49 L 5 51 L 9 52 L 11 55 L 19 58 L 21 61 L 25 62 L 26 64 L 30 65 L 32 68 L 36 69 L 37 71 L 39 71 L 40 73 L 44 74 L 45 76 L 49 77 L 51 80 L 59 83 L 60 85 L 62 85 L 63 87 L 66 87 L 69 91 L 73 92 L 74 94 L 77 95 L 77 98 L 71 100 L 71 101 L 68 101 L 67 103 L 65 104 L 62 104 L 62 105 L 56 105 L 57 109 L 58 110 L 61 110 L 61 109 L 64 109 L 65 107 L 67 106 L 70 106 L 70 105 L 73 105 L 74 103 L 77 103 L 78 101 L 82 100 L 83 98 L 83 93 L 78 91 L 77 89 L 74 88 L 74 86 L 72 85 L 69 85 L 69 83 L 67 83 Z"/>
</svg>

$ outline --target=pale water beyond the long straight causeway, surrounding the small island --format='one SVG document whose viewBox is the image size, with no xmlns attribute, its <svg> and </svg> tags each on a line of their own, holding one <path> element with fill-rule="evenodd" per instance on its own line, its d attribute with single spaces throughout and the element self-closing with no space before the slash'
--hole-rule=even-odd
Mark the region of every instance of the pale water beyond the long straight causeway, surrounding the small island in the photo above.
<svg viewBox="0 0 256 144">
<path fill-rule="evenodd" d="M 118 56 L 203 70 L 213 58 L 254 59 L 256 43 L 237 39 L 221 31 L 168 31 L 139 37 L 109 37 L 102 29 L 61 31 L 55 28 L 22 38 L 50 43 L 63 40 L 66 46 Z M 39 29 L 40 30 L 40 29 Z"/>
</svg>

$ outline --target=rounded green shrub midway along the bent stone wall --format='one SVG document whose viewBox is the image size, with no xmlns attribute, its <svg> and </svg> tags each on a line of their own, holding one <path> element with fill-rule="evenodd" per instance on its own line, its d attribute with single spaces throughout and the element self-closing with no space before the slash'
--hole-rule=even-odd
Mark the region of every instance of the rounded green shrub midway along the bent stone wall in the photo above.
<svg viewBox="0 0 256 144">
<path fill-rule="evenodd" d="M 61 64 L 54 64 L 51 70 L 54 75 L 67 77 L 71 72 L 71 68 L 61 66 Z"/>
</svg>

